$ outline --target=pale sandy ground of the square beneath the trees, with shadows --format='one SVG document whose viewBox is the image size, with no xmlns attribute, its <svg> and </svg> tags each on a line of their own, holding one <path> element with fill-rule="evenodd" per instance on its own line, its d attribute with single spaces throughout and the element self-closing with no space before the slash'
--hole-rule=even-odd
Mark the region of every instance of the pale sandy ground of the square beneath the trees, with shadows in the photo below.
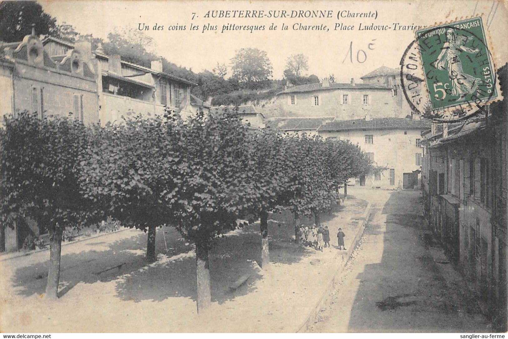
<svg viewBox="0 0 508 339">
<path fill-rule="evenodd" d="M 208 317 L 196 312 L 194 249 L 170 228 L 164 229 L 165 237 L 157 230 L 158 260 L 150 265 L 144 261 L 146 235 L 135 230 L 64 246 L 61 297 L 56 302 L 40 298 L 47 251 L 4 261 L 0 269 L 7 274 L 0 278 L 0 291 L 9 306 L 0 314 L 0 328 L 4 332 L 297 332 L 328 294 L 361 235 L 366 211 L 366 201 L 349 197 L 340 211 L 322 216 L 332 245 L 342 228 L 347 252 L 296 245 L 289 221 L 270 216 L 268 271 L 257 264 L 259 223 L 219 239 L 210 251 Z M 242 276 L 249 276 L 245 284 L 231 289 Z"/>
</svg>

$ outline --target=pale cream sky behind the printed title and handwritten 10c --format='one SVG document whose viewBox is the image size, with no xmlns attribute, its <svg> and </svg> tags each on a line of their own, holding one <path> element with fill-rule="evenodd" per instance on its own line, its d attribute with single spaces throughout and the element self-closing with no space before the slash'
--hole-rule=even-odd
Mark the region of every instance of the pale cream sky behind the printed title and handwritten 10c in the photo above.
<svg viewBox="0 0 508 339">
<path fill-rule="evenodd" d="M 169 61 L 195 72 L 211 70 L 218 63 L 230 65 L 235 51 L 240 48 L 259 48 L 267 52 L 273 65 L 273 77 L 282 78 L 285 62 L 292 54 L 308 56 L 307 75 L 320 79 L 334 74 L 338 82 L 357 81 L 362 75 L 380 66 L 399 67 L 405 48 L 414 40 L 411 30 L 394 30 L 394 24 L 434 25 L 483 13 L 485 26 L 491 36 L 492 54 L 496 66 L 508 60 L 508 2 L 486 1 L 93 1 L 51 0 L 40 1 L 44 10 L 56 17 L 57 23 L 72 24 L 82 34 L 106 38 L 115 27 L 138 30 L 148 25 L 144 34 L 156 43 L 156 53 Z M 208 11 L 260 11 L 275 16 L 281 11 L 298 14 L 313 10 L 328 13 L 325 18 L 213 18 L 205 17 Z M 292 12 L 295 11 L 295 12 Z M 195 13 L 195 14 L 193 14 Z M 230 12 L 230 15 L 233 12 Z M 238 12 L 237 12 L 238 13 Z M 252 12 L 251 12 L 252 13 Z M 259 12 L 258 12 L 259 13 Z M 346 17 L 337 18 L 337 14 Z M 376 13 L 376 17 L 347 17 L 347 13 Z M 193 18 L 194 16 L 194 18 Z M 269 30 L 271 24 L 277 30 Z M 334 30 L 354 25 L 354 30 Z M 198 26 L 191 30 L 190 25 Z M 264 31 L 226 31 L 223 25 L 265 26 Z M 280 30 L 281 25 L 288 30 Z M 293 25 L 327 25 L 329 31 L 293 30 Z M 388 30 L 359 30 L 374 24 Z M 163 30 L 152 30 L 154 25 Z M 185 30 L 168 30 L 168 26 L 185 25 Z M 202 32 L 204 26 L 217 26 L 217 30 Z M 370 44 L 370 45 L 369 45 Z M 230 73 L 231 74 L 231 73 Z"/>
</svg>

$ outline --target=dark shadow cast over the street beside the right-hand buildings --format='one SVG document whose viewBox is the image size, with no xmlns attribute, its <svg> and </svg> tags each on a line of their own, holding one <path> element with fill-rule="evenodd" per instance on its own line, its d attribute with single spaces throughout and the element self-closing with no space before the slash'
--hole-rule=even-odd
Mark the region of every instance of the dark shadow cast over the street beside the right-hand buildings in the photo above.
<svg viewBox="0 0 508 339">
<path fill-rule="evenodd" d="M 480 331 L 468 317 L 477 310 L 459 289 L 447 285 L 425 246 L 418 202 L 418 192 L 393 192 L 382 211 L 371 216 L 375 220 L 365 230 L 369 241 L 363 250 L 379 250 L 380 260 L 372 257 L 376 263 L 365 265 L 356 277 L 349 331 Z"/>
</svg>

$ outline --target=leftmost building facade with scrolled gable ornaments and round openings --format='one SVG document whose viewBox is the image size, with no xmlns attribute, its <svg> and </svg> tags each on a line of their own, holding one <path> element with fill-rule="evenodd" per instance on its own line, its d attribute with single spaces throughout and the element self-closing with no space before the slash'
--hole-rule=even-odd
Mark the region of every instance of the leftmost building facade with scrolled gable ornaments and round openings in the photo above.
<svg viewBox="0 0 508 339">
<path fill-rule="evenodd" d="M 99 121 L 97 67 L 79 48 L 51 58 L 32 32 L 21 42 L 2 43 L 0 115 L 33 112 Z"/>
</svg>

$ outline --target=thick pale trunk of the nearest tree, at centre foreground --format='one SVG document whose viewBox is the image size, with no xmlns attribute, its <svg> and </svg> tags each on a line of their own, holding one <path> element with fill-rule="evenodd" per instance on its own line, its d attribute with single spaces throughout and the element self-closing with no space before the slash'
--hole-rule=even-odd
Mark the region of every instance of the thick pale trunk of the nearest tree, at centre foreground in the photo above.
<svg viewBox="0 0 508 339">
<path fill-rule="evenodd" d="M 196 243 L 196 277 L 198 281 L 198 313 L 203 314 L 212 303 L 210 292 L 210 267 L 208 266 L 208 245 Z"/>
</svg>

